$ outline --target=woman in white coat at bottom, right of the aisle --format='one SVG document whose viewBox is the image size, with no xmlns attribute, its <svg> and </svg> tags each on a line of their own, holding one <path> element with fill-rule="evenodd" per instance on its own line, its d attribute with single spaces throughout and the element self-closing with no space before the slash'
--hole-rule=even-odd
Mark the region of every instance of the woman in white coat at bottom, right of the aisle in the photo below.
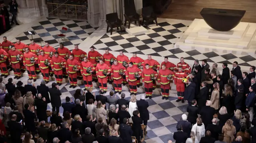
<svg viewBox="0 0 256 143">
<path fill-rule="evenodd" d="M 202 137 L 204 137 L 205 127 L 204 127 L 204 123 L 200 117 L 198 117 L 196 119 L 196 124 L 193 125 L 191 132 L 192 131 L 195 133 L 198 141 L 200 141 L 200 139 Z"/>
</svg>

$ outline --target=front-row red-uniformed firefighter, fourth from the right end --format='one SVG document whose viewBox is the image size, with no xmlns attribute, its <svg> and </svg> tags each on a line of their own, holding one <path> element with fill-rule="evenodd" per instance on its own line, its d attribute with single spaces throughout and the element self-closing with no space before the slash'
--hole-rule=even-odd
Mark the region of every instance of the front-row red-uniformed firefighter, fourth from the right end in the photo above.
<svg viewBox="0 0 256 143">
<path fill-rule="evenodd" d="M 133 65 L 132 62 L 129 63 L 129 67 L 126 69 L 126 81 L 128 82 L 129 84 L 129 87 L 130 87 L 130 92 L 134 95 L 137 94 L 137 78 L 134 76 L 134 73 L 135 72 L 139 72 L 139 77 L 141 76 L 141 70 L 136 66 L 136 65 Z"/>
</svg>

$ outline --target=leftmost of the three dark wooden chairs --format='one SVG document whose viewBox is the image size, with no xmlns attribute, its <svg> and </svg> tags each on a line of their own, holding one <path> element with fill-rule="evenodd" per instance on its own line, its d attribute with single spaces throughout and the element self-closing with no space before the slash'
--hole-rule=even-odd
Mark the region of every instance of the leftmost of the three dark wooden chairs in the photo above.
<svg viewBox="0 0 256 143">
<path fill-rule="evenodd" d="M 106 14 L 106 23 L 108 25 L 107 32 L 110 27 L 110 35 L 112 35 L 113 28 L 120 27 L 120 30 L 122 31 L 122 21 L 118 18 L 117 12 Z"/>
</svg>

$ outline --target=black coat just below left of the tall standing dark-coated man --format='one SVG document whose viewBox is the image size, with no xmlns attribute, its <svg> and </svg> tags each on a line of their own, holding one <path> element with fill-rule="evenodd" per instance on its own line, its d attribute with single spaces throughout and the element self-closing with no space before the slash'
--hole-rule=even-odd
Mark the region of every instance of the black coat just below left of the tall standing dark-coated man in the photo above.
<svg viewBox="0 0 256 143">
<path fill-rule="evenodd" d="M 44 102 L 42 99 L 35 99 L 34 100 L 34 105 L 36 106 L 36 113 L 37 113 L 37 118 L 39 121 L 47 121 L 47 103 Z"/>
</svg>

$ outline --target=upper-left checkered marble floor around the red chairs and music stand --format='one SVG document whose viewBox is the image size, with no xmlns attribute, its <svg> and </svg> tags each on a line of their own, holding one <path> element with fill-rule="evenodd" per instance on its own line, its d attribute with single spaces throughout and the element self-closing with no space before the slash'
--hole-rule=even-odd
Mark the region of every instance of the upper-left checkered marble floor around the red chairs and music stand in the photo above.
<svg viewBox="0 0 256 143">
<path fill-rule="evenodd" d="M 68 28 L 66 38 L 64 41 L 59 39 L 57 36 L 60 32 L 65 34 L 62 27 Z M 85 21 L 80 20 L 67 20 L 59 18 L 42 18 L 35 25 L 26 29 L 16 39 L 20 39 L 22 43 L 30 44 L 32 39 L 28 31 L 34 31 L 36 35 L 33 35 L 34 41 L 44 46 L 44 41 L 48 41 L 52 47 L 58 48 L 59 43 L 64 43 L 64 46 L 68 49 L 74 49 L 75 44 L 80 44 L 88 36 L 90 36 L 96 29 L 97 26 L 90 25 Z M 7 37 L 8 38 L 8 37 Z M 13 43 L 16 43 L 16 39 L 9 39 Z M 59 39 L 59 41 L 58 41 Z"/>
</svg>

